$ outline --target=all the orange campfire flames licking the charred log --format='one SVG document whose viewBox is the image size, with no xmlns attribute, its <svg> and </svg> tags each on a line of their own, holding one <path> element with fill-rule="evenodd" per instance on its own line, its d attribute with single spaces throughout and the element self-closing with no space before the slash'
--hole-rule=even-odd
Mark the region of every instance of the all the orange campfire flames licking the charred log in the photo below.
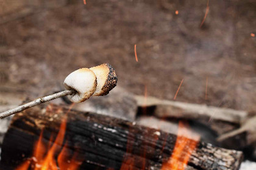
<svg viewBox="0 0 256 170">
<path fill-rule="evenodd" d="M 72 105 L 73 106 L 73 105 Z M 47 109 L 49 109 L 48 106 Z M 68 110 L 69 111 L 69 110 Z M 60 112 L 60 110 L 57 110 Z M 31 158 L 24 161 L 16 170 L 43 170 L 43 169 L 67 169 L 67 170 L 76 170 L 79 169 L 79 166 L 82 164 L 82 159 L 79 157 L 79 152 L 74 151 L 73 155 L 68 152 L 67 144 L 63 145 L 65 131 L 66 131 L 66 115 L 63 118 L 62 124 L 60 124 L 60 130 L 55 138 L 55 141 L 49 140 L 48 144 L 44 144 L 43 141 L 43 130 L 41 131 L 40 137 L 35 144 L 34 154 Z M 187 128 L 186 128 L 187 127 Z M 160 133 L 160 132 L 159 132 Z M 156 133 L 157 135 L 159 133 Z M 157 140 L 157 138 L 155 139 Z M 163 163 L 161 170 L 183 170 L 187 167 L 188 160 L 192 152 L 196 149 L 197 142 L 199 141 L 199 135 L 192 134 L 188 131 L 188 124 L 180 121 L 179 131 L 177 135 L 176 144 L 172 152 L 171 157 L 165 163 Z M 129 143 L 129 141 L 127 141 Z M 50 144 L 52 144 L 50 146 Z M 59 145 L 63 145 L 63 148 L 60 149 Z M 132 145 L 127 145 L 127 152 L 130 153 L 129 149 L 132 148 Z M 59 151 L 58 151 L 59 150 Z M 144 151 L 145 153 L 145 151 Z M 186 153 L 185 155 L 183 153 Z M 57 155 L 57 158 L 55 158 Z M 81 155 L 80 155 L 81 156 Z M 146 155 L 144 155 L 145 157 Z M 124 162 L 120 169 L 129 169 L 129 166 L 132 168 L 133 158 L 124 158 Z M 145 163 L 143 162 L 143 168 L 145 169 Z M 127 167 L 128 166 L 128 167 Z"/>
</svg>

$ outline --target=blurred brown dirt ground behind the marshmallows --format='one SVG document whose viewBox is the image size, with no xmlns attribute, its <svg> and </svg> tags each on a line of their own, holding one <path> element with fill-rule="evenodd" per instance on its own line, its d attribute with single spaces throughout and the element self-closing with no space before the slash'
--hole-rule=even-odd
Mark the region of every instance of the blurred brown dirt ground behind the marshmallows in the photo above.
<svg viewBox="0 0 256 170">
<path fill-rule="evenodd" d="M 177 101 L 255 112 L 256 4 L 210 1 L 200 27 L 206 7 L 206 0 L 70 1 L 6 22 L 0 89 L 37 98 L 62 90 L 76 69 L 110 63 L 118 86 L 134 94 L 146 86 L 147 95 L 173 100 L 183 79 Z"/>
</svg>

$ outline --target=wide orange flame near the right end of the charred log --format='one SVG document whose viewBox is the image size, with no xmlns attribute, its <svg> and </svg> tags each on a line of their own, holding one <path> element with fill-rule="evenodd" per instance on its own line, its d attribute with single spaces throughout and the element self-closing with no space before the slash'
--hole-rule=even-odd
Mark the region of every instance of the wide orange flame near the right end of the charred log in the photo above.
<svg viewBox="0 0 256 170">
<path fill-rule="evenodd" d="M 163 163 L 162 170 L 183 170 L 187 167 L 190 155 L 196 149 L 199 135 L 188 130 L 188 124 L 179 122 L 176 144 L 171 157 Z"/>
</svg>

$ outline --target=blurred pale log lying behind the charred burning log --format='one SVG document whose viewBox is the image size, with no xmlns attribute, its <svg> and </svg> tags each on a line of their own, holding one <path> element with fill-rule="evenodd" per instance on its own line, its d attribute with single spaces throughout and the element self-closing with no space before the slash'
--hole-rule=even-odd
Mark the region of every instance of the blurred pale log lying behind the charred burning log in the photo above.
<svg viewBox="0 0 256 170">
<path fill-rule="evenodd" d="M 136 99 L 139 107 L 146 109 L 147 112 L 152 112 L 151 114 L 159 118 L 180 118 L 198 121 L 210 126 L 218 135 L 238 129 L 249 115 L 243 110 L 159 100 L 154 97 L 147 97 L 145 100 L 143 96 L 137 96 Z M 152 108 L 153 110 L 150 110 Z"/>
</svg>

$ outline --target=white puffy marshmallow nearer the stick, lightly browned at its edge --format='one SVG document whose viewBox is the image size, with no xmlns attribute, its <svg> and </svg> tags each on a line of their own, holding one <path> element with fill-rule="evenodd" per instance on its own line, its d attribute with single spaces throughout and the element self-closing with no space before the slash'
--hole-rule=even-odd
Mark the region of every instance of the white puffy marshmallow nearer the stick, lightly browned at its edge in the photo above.
<svg viewBox="0 0 256 170">
<path fill-rule="evenodd" d="M 78 69 L 65 78 L 64 86 L 67 90 L 76 90 L 76 93 L 68 98 L 74 103 L 80 103 L 93 95 L 97 87 L 97 78 L 90 69 Z"/>
</svg>

